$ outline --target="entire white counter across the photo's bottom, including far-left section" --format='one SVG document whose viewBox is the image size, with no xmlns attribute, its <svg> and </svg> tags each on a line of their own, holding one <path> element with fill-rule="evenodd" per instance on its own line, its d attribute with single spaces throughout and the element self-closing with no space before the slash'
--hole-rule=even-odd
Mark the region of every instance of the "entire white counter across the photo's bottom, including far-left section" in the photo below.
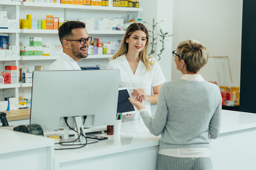
<svg viewBox="0 0 256 170">
<path fill-rule="evenodd" d="M 108 139 L 52 151 L 52 139 L 0 129 L 0 167 L 48 170 L 53 159 L 54 170 L 156 168 L 160 136 L 153 136 L 142 121 L 122 123 L 120 135 L 102 136 Z M 221 134 L 211 142 L 213 169 L 254 170 L 255 153 L 256 114 L 223 110 Z"/>
</svg>

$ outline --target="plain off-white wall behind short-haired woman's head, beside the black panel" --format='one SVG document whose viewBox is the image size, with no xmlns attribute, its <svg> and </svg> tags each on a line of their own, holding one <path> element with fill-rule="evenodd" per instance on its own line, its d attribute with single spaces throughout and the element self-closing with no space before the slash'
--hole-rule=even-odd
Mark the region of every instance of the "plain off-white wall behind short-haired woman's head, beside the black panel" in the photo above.
<svg viewBox="0 0 256 170">
<path fill-rule="evenodd" d="M 228 56 L 233 83 L 240 87 L 242 0 L 174 0 L 173 49 L 179 42 L 196 39 L 209 56 Z M 172 63 L 172 80 L 182 75 Z M 207 79 L 211 80 L 211 79 Z"/>
</svg>

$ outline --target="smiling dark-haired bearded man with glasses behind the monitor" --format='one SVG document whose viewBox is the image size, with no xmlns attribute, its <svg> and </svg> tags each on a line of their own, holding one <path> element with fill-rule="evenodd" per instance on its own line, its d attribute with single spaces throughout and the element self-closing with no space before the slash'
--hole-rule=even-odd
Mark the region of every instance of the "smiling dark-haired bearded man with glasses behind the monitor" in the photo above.
<svg viewBox="0 0 256 170">
<path fill-rule="evenodd" d="M 49 70 L 81 70 L 78 62 L 88 56 L 88 47 L 92 41 L 85 28 L 85 23 L 68 21 L 58 29 L 58 36 L 63 52 L 54 61 Z"/>
</svg>

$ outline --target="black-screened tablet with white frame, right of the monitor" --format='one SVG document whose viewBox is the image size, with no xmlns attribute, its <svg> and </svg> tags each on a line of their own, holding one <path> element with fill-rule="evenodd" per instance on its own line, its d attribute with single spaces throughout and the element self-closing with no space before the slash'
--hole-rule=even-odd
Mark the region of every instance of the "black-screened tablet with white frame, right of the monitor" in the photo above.
<svg viewBox="0 0 256 170">
<path fill-rule="evenodd" d="M 122 115 L 126 115 L 126 114 L 134 114 L 137 112 L 134 105 L 132 105 L 132 103 L 128 99 L 130 97 L 131 96 L 127 88 L 119 88 L 117 113 L 122 113 Z"/>
</svg>

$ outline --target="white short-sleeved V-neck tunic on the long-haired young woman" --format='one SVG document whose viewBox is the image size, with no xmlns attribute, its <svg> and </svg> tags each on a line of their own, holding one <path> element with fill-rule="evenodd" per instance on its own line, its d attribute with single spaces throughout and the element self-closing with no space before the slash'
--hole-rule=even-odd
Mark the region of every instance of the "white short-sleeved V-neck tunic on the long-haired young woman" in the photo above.
<svg viewBox="0 0 256 170">
<path fill-rule="evenodd" d="M 155 62 L 154 58 L 150 59 L 151 62 Z M 120 79 L 119 88 L 127 87 L 130 95 L 134 89 L 143 89 L 147 96 L 151 96 L 152 87 L 158 86 L 165 81 L 163 72 L 158 63 L 151 66 L 149 72 L 146 71 L 146 66 L 140 60 L 135 74 L 133 73 L 129 62 L 127 61 L 125 54 L 120 57 L 111 60 L 108 63 L 107 69 L 119 69 Z M 145 72 L 146 71 L 146 72 Z M 151 114 L 150 102 L 143 101 L 143 105 L 146 110 Z M 141 119 L 139 111 L 132 116 L 122 117 L 122 121 L 132 121 Z"/>
</svg>

